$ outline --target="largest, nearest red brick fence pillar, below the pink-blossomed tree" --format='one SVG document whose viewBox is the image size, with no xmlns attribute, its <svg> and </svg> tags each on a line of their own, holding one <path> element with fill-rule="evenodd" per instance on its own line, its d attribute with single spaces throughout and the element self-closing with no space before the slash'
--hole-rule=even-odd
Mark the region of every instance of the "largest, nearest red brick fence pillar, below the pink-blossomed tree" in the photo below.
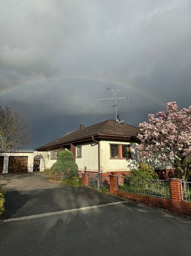
<svg viewBox="0 0 191 256">
<path fill-rule="evenodd" d="M 170 179 L 170 203 L 174 212 L 181 213 L 182 196 L 181 196 L 181 179 Z"/>
</svg>

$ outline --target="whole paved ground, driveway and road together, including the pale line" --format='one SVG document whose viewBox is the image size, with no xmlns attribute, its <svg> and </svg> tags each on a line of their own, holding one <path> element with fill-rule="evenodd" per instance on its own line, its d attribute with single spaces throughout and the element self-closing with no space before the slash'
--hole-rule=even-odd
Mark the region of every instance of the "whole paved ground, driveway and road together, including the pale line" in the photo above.
<svg viewBox="0 0 191 256">
<path fill-rule="evenodd" d="M 0 255 L 191 255 L 189 218 L 39 173 L 3 183 Z"/>
</svg>

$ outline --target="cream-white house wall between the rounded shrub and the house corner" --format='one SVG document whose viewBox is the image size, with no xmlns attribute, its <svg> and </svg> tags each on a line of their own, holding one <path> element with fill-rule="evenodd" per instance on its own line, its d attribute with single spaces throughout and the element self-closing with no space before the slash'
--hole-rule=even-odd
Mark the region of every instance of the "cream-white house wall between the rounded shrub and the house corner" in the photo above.
<svg viewBox="0 0 191 256">
<path fill-rule="evenodd" d="M 88 172 L 98 172 L 98 144 L 92 141 L 92 143 L 77 144 L 77 146 L 82 146 L 82 157 L 76 158 L 79 170 L 84 170 L 86 166 Z"/>
</svg>

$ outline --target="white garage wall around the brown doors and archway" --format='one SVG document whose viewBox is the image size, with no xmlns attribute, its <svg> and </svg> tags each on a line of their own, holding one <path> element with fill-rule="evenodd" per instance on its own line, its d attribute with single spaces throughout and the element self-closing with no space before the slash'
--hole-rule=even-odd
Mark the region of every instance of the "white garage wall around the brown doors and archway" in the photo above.
<svg viewBox="0 0 191 256">
<path fill-rule="evenodd" d="M 42 152 L 0 152 L 0 156 L 4 156 L 3 162 L 3 174 L 8 173 L 9 156 L 25 156 L 28 157 L 27 172 L 33 172 L 34 157 L 40 155 Z M 40 160 L 40 172 L 44 170 L 43 161 Z"/>
</svg>

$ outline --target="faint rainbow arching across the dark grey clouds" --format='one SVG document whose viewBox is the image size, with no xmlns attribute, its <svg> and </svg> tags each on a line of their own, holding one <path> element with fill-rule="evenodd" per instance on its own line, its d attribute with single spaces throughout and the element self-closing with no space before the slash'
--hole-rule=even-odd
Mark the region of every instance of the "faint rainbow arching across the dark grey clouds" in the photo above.
<svg viewBox="0 0 191 256">
<path fill-rule="evenodd" d="M 30 79 L 23 81 L 20 84 L 16 84 L 13 87 L 5 88 L 5 89 L 0 89 L 0 97 L 2 95 L 5 95 L 7 93 L 15 92 L 16 90 L 19 90 L 20 88 L 25 88 L 25 87 L 33 87 L 37 86 L 40 83 L 44 82 L 53 82 L 53 81 L 58 81 L 58 80 L 87 80 L 87 81 L 94 81 L 94 82 L 102 82 L 105 83 L 105 86 L 109 87 L 130 87 L 131 90 L 133 90 L 136 93 L 139 93 L 142 96 L 145 96 L 148 99 L 151 99 L 158 103 L 159 105 L 166 106 L 166 103 L 160 99 L 158 99 L 155 95 L 151 94 L 150 92 L 146 92 L 144 89 L 141 88 L 136 88 L 132 84 L 126 84 L 120 81 L 114 81 L 106 78 L 94 78 L 94 77 L 88 77 L 88 76 L 61 76 L 61 77 L 51 77 L 51 78 L 35 78 L 35 79 Z"/>
</svg>

